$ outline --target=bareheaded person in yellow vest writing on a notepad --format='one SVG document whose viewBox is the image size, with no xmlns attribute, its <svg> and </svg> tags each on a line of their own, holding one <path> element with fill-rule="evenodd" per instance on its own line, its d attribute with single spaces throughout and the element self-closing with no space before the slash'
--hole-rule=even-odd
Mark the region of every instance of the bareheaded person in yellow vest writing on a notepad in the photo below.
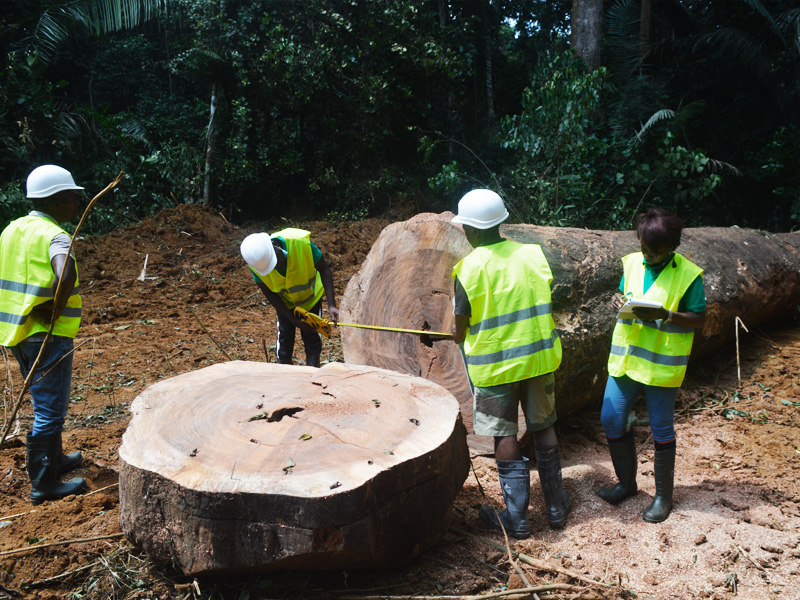
<svg viewBox="0 0 800 600">
<path fill-rule="evenodd" d="M 641 252 L 622 258 L 620 290 L 626 296 L 659 302 L 661 308 L 634 308 L 635 319 L 618 319 L 611 341 L 600 420 L 608 438 L 611 462 L 619 482 L 597 491 L 606 502 L 618 504 L 636 494 L 636 439 L 627 430 L 628 413 L 644 393 L 650 429 L 656 495 L 642 518 L 664 521 L 672 510 L 675 476 L 675 397 L 686 375 L 696 329 L 706 320 L 703 270 L 675 252 L 681 243 L 683 221 L 660 208 L 637 218 Z M 624 299 L 615 294 L 618 311 Z"/>
</svg>

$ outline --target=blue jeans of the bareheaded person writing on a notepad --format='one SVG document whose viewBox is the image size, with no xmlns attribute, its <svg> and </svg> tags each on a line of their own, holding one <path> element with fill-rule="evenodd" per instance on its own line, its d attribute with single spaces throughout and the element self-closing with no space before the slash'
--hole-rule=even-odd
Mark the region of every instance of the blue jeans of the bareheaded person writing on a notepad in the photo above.
<svg viewBox="0 0 800 600">
<path fill-rule="evenodd" d="M 645 385 L 630 377 L 609 377 L 606 383 L 600 422 L 606 437 L 618 438 L 625 435 L 628 413 L 641 392 L 647 402 L 650 415 L 650 429 L 657 442 L 671 442 L 675 439 L 675 397 L 678 388 L 665 388 Z"/>
</svg>

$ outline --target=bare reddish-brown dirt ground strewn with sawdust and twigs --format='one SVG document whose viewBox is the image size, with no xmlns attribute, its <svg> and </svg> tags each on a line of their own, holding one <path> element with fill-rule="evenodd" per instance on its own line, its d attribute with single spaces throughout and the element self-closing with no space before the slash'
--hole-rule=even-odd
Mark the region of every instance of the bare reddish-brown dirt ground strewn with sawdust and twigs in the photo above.
<svg viewBox="0 0 800 600">
<path fill-rule="evenodd" d="M 388 223 L 292 224 L 313 232 L 340 297 Z M 264 360 L 265 350 L 275 361 L 274 312 L 256 294 L 238 252 L 245 235 L 258 230 L 181 206 L 80 241 L 84 322 L 64 445 L 83 452 L 75 474 L 86 478 L 90 493 L 30 505 L 22 440 L 32 413 L 23 404 L 20 435 L 0 450 L 0 600 L 497 597 L 526 583 L 573 586 L 557 597 L 800 598 L 797 322 L 742 332 L 741 381 L 734 346 L 690 366 L 678 396 L 676 506 L 664 523 L 641 520 L 654 492 L 652 439 L 641 406 L 638 495 L 620 507 L 595 496 L 613 473 L 595 408 L 560 423 L 573 501 L 567 526 L 547 528 L 534 471 L 534 535 L 512 544 L 521 553 L 516 567 L 502 535 L 477 519 L 481 503 L 502 503 L 493 461 L 484 456 L 473 458 L 474 474 L 446 538 L 409 565 L 194 580 L 152 564 L 118 524 L 117 449 L 128 407 L 162 378 L 229 358 Z M 300 343 L 295 357 L 302 360 Z M 326 341 L 324 360 L 342 360 L 337 335 Z M 21 386 L 15 361 L 7 367 L 6 415 Z"/>
</svg>

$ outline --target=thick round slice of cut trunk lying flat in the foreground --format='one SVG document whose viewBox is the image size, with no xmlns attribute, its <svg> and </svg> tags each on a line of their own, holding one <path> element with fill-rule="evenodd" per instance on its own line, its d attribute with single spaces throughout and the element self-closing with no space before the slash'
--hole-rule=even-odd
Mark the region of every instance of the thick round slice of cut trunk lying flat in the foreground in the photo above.
<svg viewBox="0 0 800 600">
<path fill-rule="evenodd" d="M 469 468 L 453 396 L 374 367 L 218 364 L 131 411 L 120 526 L 185 574 L 402 564 L 440 539 Z"/>
</svg>

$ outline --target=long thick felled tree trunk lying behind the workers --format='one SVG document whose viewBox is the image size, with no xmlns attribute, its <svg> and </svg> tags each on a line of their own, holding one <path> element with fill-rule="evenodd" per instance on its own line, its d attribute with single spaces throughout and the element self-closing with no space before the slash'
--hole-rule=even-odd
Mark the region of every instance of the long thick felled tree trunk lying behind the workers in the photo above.
<svg viewBox="0 0 800 600">
<path fill-rule="evenodd" d="M 344 322 L 449 331 L 453 266 L 471 250 L 452 213 L 423 214 L 384 229 L 342 298 Z M 609 301 L 622 276 L 620 259 L 637 251 L 633 231 L 590 231 L 503 225 L 508 239 L 542 246 L 553 271 L 556 327 L 564 348 L 556 372 L 563 417 L 598 402 L 615 314 Z M 800 303 L 800 233 L 774 235 L 738 228 L 685 229 L 679 252 L 705 270 L 707 321 L 693 356 L 719 348 L 736 333 L 796 313 Z M 345 362 L 394 369 L 435 381 L 458 399 L 468 430 L 472 396 L 452 341 L 341 329 Z"/>
</svg>

